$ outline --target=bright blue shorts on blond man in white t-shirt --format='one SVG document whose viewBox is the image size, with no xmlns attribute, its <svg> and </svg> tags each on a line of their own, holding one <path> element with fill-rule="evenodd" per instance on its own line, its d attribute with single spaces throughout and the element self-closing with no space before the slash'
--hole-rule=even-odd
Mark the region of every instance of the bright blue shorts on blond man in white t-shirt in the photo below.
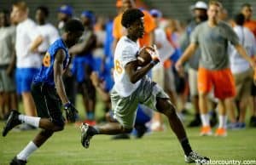
<svg viewBox="0 0 256 165">
<path fill-rule="evenodd" d="M 38 68 L 17 68 L 16 69 L 16 88 L 17 93 L 31 92 L 33 77 L 38 73 Z"/>
</svg>

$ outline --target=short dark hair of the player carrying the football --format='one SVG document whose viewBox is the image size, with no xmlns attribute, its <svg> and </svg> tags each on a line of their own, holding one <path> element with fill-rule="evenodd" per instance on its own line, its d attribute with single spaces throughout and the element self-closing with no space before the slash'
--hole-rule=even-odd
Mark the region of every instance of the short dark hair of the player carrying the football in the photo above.
<svg viewBox="0 0 256 165">
<path fill-rule="evenodd" d="M 144 16 L 143 12 L 139 9 L 127 9 L 122 16 L 122 26 L 127 28 L 136 20 L 139 20 Z"/>
</svg>

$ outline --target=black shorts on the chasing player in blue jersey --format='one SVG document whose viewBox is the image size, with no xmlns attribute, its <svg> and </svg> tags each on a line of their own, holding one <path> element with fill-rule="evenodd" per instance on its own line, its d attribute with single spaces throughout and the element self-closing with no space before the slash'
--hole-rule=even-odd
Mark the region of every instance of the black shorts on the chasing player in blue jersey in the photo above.
<svg viewBox="0 0 256 165">
<path fill-rule="evenodd" d="M 37 107 L 38 117 L 49 118 L 57 126 L 64 126 L 65 119 L 61 112 L 61 100 L 55 88 L 44 83 L 32 84 L 32 97 Z"/>
</svg>

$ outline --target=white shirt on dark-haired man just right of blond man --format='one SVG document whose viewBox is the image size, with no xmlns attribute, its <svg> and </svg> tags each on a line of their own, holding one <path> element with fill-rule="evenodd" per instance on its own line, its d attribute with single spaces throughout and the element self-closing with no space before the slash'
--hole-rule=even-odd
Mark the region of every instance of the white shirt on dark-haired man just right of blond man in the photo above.
<svg viewBox="0 0 256 165">
<path fill-rule="evenodd" d="M 44 24 L 43 26 L 38 25 L 38 31 L 44 37 L 43 43 L 38 47 L 39 52 L 46 52 L 51 43 L 54 43 L 60 36 L 55 26 L 51 24 Z"/>
</svg>

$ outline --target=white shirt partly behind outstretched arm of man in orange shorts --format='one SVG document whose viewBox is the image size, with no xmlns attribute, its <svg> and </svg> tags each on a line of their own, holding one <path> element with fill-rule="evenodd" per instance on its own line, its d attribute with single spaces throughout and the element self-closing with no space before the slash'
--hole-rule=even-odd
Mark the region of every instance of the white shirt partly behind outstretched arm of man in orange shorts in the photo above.
<svg viewBox="0 0 256 165">
<path fill-rule="evenodd" d="M 239 42 L 246 49 L 247 54 L 250 57 L 256 54 L 256 42 L 253 33 L 243 26 L 235 26 L 234 31 L 239 37 Z M 229 47 L 229 52 L 230 68 L 232 73 L 241 73 L 243 71 L 247 71 L 250 68 L 247 60 L 241 58 L 241 55 L 238 54 L 236 48 L 234 48 L 232 45 Z"/>
</svg>

